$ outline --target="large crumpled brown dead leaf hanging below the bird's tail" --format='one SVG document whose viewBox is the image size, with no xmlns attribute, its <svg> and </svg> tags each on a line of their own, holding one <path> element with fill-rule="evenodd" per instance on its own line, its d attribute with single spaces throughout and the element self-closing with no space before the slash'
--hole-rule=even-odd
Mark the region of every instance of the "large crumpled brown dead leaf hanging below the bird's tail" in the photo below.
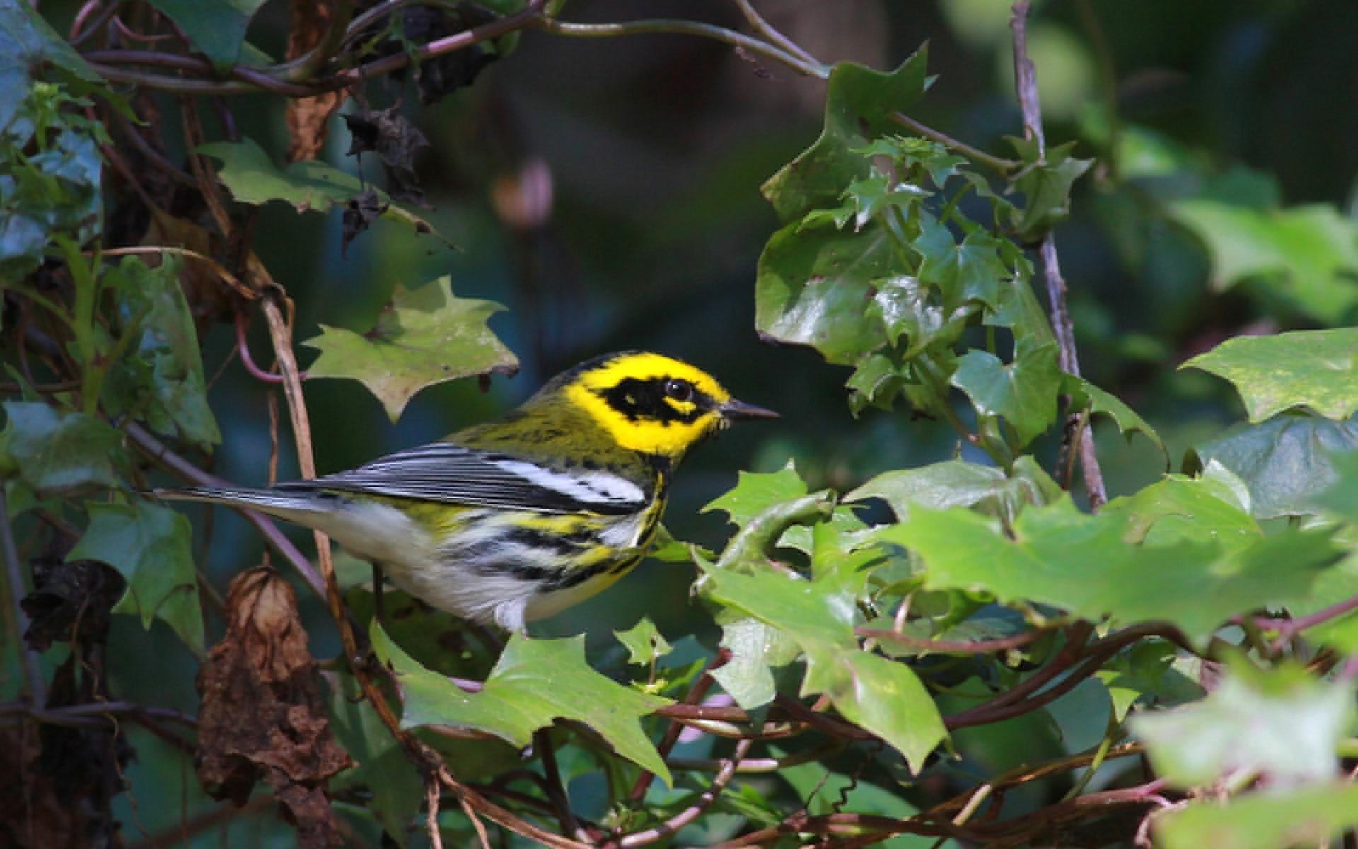
<svg viewBox="0 0 1358 849">
<path fill-rule="evenodd" d="M 353 762 L 330 734 L 296 595 L 272 569 L 251 569 L 231 581 L 227 619 L 198 671 L 198 780 L 236 806 L 263 780 L 296 823 L 299 845 L 338 846 L 325 788 Z"/>
</svg>

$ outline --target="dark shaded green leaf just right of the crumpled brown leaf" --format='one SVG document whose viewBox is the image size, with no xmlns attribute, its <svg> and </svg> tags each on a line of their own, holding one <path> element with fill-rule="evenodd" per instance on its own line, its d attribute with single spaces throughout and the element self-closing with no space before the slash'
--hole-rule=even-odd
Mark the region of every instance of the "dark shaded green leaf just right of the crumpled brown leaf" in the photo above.
<svg viewBox="0 0 1358 849">
<path fill-rule="evenodd" d="M 420 812 L 424 787 L 405 748 L 387 731 L 372 702 L 363 698 L 353 676 L 329 675 L 330 727 L 359 765 L 335 777 L 342 788 L 363 787 L 372 793 L 367 806 L 382 827 L 405 845 L 406 826 Z M 466 774 L 466 773 L 459 773 Z"/>
</svg>

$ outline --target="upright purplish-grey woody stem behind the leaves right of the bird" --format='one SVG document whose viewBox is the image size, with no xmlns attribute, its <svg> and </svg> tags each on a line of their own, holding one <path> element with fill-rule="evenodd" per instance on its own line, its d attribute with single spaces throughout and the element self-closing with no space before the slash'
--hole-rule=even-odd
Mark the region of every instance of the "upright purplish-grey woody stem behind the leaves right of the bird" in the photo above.
<svg viewBox="0 0 1358 849">
<path fill-rule="evenodd" d="M 1023 111 L 1024 137 L 1038 143 L 1038 162 L 1046 162 L 1047 137 L 1042 129 L 1042 102 L 1038 98 L 1038 69 L 1028 58 L 1028 12 L 1029 0 L 1019 0 L 1013 4 L 1013 18 L 1009 27 L 1013 30 L 1014 48 L 1014 88 L 1019 95 L 1019 107 Z M 1047 300 L 1051 304 L 1051 325 L 1057 334 L 1061 369 L 1069 375 L 1080 376 L 1080 357 L 1076 352 L 1076 327 L 1070 319 L 1070 310 L 1066 307 L 1066 280 L 1061 274 L 1061 262 L 1057 257 L 1057 236 L 1047 231 L 1042 238 L 1042 270 L 1047 283 Z M 1081 413 L 1080 416 L 1088 416 Z M 1070 439 L 1076 443 L 1069 450 L 1078 451 L 1080 470 L 1085 480 L 1085 492 L 1089 496 L 1089 507 L 1099 509 L 1108 501 L 1108 489 L 1104 485 L 1103 470 L 1099 466 L 1099 456 L 1095 451 L 1093 432 L 1086 427 L 1077 427 Z"/>
</svg>

